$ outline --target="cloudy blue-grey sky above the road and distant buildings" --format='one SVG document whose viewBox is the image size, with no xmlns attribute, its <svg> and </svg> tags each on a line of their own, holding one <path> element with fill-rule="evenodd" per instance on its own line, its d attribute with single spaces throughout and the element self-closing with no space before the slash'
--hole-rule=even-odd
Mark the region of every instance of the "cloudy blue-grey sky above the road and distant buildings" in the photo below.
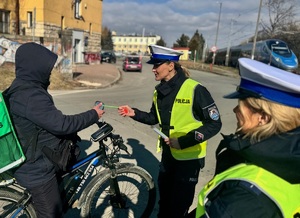
<svg viewBox="0 0 300 218">
<path fill-rule="evenodd" d="M 117 34 L 160 35 L 168 47 L 182 34 L 191 38 L 198 30 L 211 47 L 216 41 L 222 5 L 217 47 L 224 48 L 254 35 L 259 3 L 260 0 L 104 0 L 103 26 Z M 300 5 L 296 7 L 299 16 Z M 265 6 L 260 18 L 268 21 Z"/>
</svg>

